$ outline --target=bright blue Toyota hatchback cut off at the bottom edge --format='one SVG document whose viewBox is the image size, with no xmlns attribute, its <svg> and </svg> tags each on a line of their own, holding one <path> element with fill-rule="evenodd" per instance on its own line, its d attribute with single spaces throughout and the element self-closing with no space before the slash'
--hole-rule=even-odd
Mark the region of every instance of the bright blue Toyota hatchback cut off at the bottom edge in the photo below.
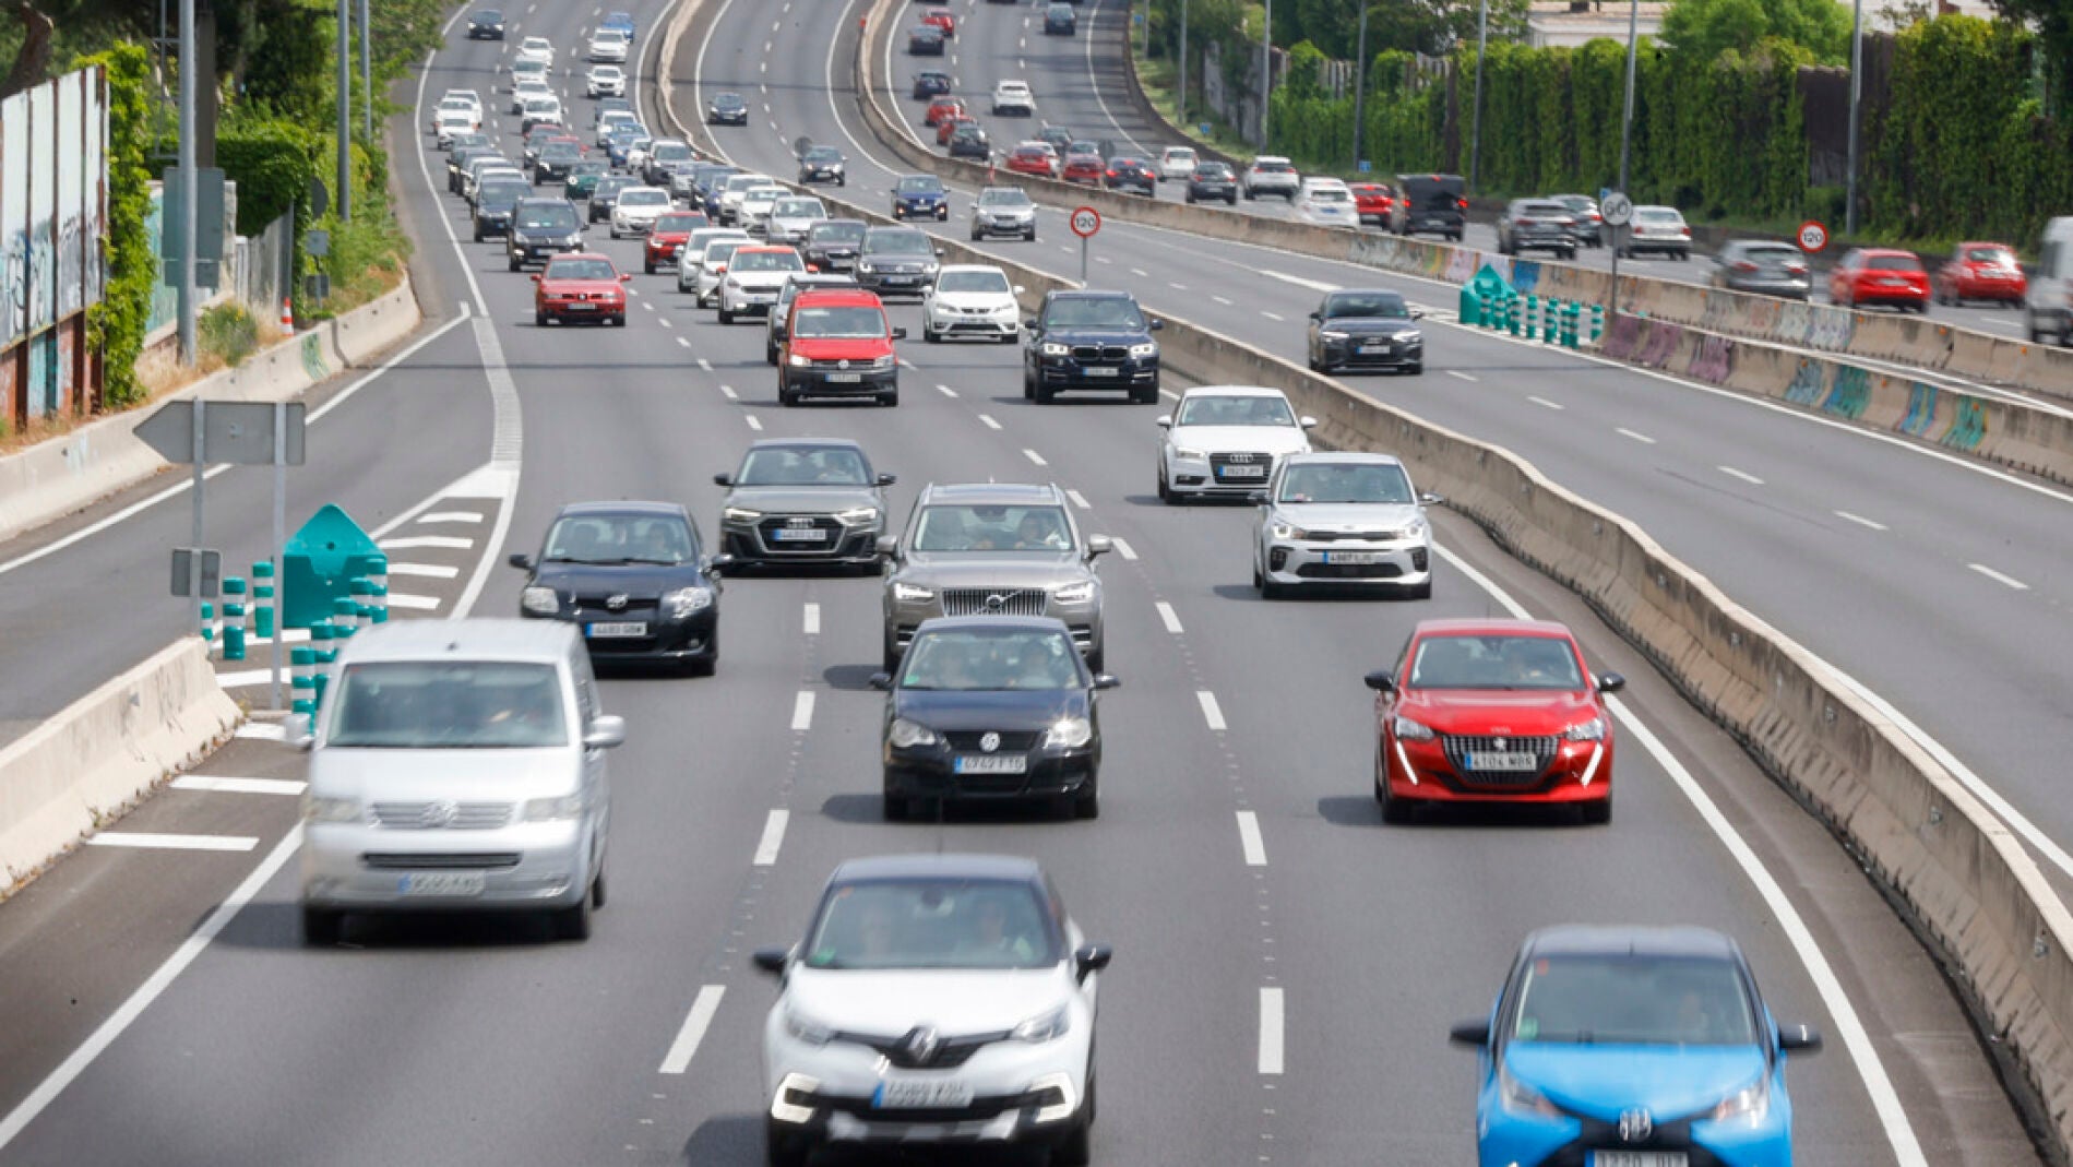
<svg viewBox="0 0 2073 1167">
<path fill-rule="evenodd" d="M 1478 1051 L 1482 1167 L 1791 1167 L 1789 1053 L 1733 939 L 1708 929 L 1542 929 L 1520 947 Z"/>
</svg>

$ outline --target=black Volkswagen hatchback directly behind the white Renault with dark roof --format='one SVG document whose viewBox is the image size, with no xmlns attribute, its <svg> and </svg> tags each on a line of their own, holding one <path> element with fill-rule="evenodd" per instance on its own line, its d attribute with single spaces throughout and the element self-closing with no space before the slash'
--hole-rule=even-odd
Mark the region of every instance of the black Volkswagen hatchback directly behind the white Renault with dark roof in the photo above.
<svg viewBox="0 0 2073 1167">
<path fill-rule="evenodd" d="M 1047 616 L 922 622 L 885 690 L 885 819 L 937 802 L 1034 800 L 1101 815 L 1101 715 L 1115 678 L 1088 672 Z"/>
</svg>

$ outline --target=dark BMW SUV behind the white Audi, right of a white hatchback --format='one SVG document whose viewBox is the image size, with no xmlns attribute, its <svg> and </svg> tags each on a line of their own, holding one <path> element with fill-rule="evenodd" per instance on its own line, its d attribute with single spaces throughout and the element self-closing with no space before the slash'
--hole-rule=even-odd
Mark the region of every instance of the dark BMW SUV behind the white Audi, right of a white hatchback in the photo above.
<svg viewBox="0 0 2073 1167">
<path fill-rule="evenodd" d="M 1126 390 L 1153 404 L 1159 328 L 1130 292 L 1045 292 L 1022 328 L 1022 396 L 1049 402 L 1059 390 Z"/>
</svg>

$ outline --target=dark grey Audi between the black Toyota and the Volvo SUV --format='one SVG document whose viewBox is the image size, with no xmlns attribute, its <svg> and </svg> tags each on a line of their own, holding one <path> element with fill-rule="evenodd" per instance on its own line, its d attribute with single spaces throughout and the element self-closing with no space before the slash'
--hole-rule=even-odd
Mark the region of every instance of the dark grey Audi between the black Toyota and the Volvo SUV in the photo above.
<svg viewBox="0 0 2073 1167">
<path fill-rule="evenodd" d="M 719 539 L 736 564 L 879 566 L 891 475 L 848 439 L 769 437 L 748 448 L 719 506 Z"/>
</svg>

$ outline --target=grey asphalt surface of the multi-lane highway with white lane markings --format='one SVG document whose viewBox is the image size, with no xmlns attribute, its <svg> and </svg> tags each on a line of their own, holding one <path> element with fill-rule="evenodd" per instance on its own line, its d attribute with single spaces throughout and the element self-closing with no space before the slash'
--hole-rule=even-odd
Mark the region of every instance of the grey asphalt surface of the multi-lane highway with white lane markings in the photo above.
<svg viewBox="0 0 2073 1167">
<path fill-rule="evenodd" d="M 889 172 L 850 139 L 856 120 L 823 64 L 835 60 L 831 35 L 854 35 L 856 10 L 707 4 L 680 68 L 750 93 L 763 112 L 759 129 L 721 137 L 738 162 L 784 176 L 790 139 L 806 133 L 850 151 L 850 195 L 883 197 Z M 661 4 L 634 12 L 643 44 L 659 35 Z M 564 56 L 597 17 L 510 15 L 508 46 L 549 35 Z M 960 15 L 976 33 L 1024 8 Z M 502 60 L 504 46 L 450 39 L 425 91 L 487 97 Z M 562 83 L 580 110 L 580 91 Z M 516 124 L 493 120 L 516 145 Z M 0 1163 L 755 1163 L 771 985 L 746 953 L 796 939 L 833 862 L 896 850 L 1034 856 L 1080 922 L 1115 943 L 1101 995 L 1101 1163 L 1466 1161 L 1472 1059 L 1447 1049 L 1445 1028 L 1486 1009 L 1517 941 L 1557 920 L 1737 935 L 1781 1020 L 1828 1034 L 1826 1053 L 1791 1068 L 1799 1163 L 2036 1161 L 1934 960 L 1853 860 L 1573 597 L 1472 526 L 1441 518 L 1447 553 L 1430 601 L 1265 603 L 1246 587 L 1250 510 L 1153 497 L 1157 410 L 1028 404 L 1014 350 L 910 344 L 898 408 L 782 410 L 761 330 L 719 325 L 668 274 L 634 278 L 624 330 L 535 328 L 531 284 L 504 272 L 495 245 L 448 234 L 464 222 L 460 205 L 423 178 L 419 158 L 444 160 L 415 122 L 410 112 L 392 129 L 421 284 L 431 311 L 464 305 L 466 319 L 431 325 L 448 332 L 336 406 L 311 439 L 313 462 L 319 452 L 325 462 L 296 487 L 299 510 L 340 497 L 386 537 L 423 539 L 429 522 L 464 543 L 402 545 L 458 553 L 450 578 L 423 587 L 433 607 L 398 616 L 516 611 L 518 574 L 498 562 L 531 549 L 564 502 L 676 500 L 711 531 L 711 475 L 759 435 L 864 442 L 900 475 L 896 512 L 927 481 L 1057 481 L 1088 531 L 1119 539 L 1103 562 L 1109 670 L 1124 678 L 1105 709 L 1105 813 L 885 825 L 883 699 L 864 686 L 879 582 L 734 580 L 715 678 L 603 686 L 630 738 L 612 757 L 612 904 L 589 943 L 551 943 L 514 920 L 402 920 L 357 927 L 344 949 L 301 947 L 296 800 L 284 796 L 301 757 L 267 740 L 238 740 L 199 769 L 261 781 L 189 784 L 124 821 L 236 835 L 249 850 L 89 848 L 33 883 L 0 910 L 10 987 L 0 1032 L 15 1034 L 0 1070 Z M 999 253 L 1059 269 L 1061 236 L 1051 214 L 1039 245 Z M 1283 354 L 1318 286 L 1370 278 L 1206 240 L 1182 249 L 1163 232 L 1111 228 L 1103 240 L 1103 276 L 1151 307 Z M 636 265 L 638 243 L 595 232 L 591 245 Z M 893 313 L 918 334 L 910 307 Z M 1924 638 L 1980 636 L 1957 657 L 1982 670 L 1973 684 L 1990 680 L 1994 653 L 2048 651 L 2038 628 L 2017 645 L 2021 605 L 2052 603 L 2048 580 L 2065 574 L 2048 572 L 2063 551 L 2000 547 L 1982 516 L 2009 516 L 2009 531 L 2048 524 L 2061 500 L 1571 357 L 1451 328 L 1435 328 L 1430 346 L 1422 381 L 1364 388 L 1515 444 L 1694 560 L 1719 545 L 1708 570 L 1745 562 L 1716 570 L 1731 593 L 1797 616 L 1793 632 L 1833 630 L 1837 649 L 1893 661 L 1880 686 L 1930 659 L 1893 643 L 1911 641 L 1895 630 L 1928 597 L 1942 597 L 1932 614 L 1959 611 Z M 475 475 L 485 464 L 491 473 Z M 240 479 L 220 481 L 234 495 Z M 1835 510 L 1882 529 L 1837 526 Z M 257 547 L 261 514 L 257 502 L 226 502 L 226 547 Z M 178 626 L 172 601 L 145 585 L 162 578 L 158 556 L 180 535 L 182 508 L 110 518 L 15 568 L 46 587 L 106 574 L 135 593 L 135 618 L 104 607 L 52 645 L 118 657 L 124 638 L 151 647 Z M 1845 531 L 1859 541 L 1845 545 Z M 1967 558 L 2029 572 L 2036 589 L 1953 599 L 1992 585 Z M 1891 587 L 1866 591 L 1886 572 Z M 1381 827 L 1360 676 L 1416 620 L 1505 611 L 1569 620 L 1596 667 L 1631 678 L 1617 821 Z M 4 618 L 17 626 L 15 611 Z M 54 618 L 48 605 L 21 614 Z M 1990 628 L 2007 634 L 1984 636 Z M 1944 653 L 1922 680 L 1949 699 L 1955 649 Z M 2048 701 L 2040 688 L 2009 680 L 1967 701 L 1984 715 L 1992 701 Z M 228 910 L 211 914 L 226 895 Z M 197 920 L 201 943 L 182 947 Z"/>
</svg>

